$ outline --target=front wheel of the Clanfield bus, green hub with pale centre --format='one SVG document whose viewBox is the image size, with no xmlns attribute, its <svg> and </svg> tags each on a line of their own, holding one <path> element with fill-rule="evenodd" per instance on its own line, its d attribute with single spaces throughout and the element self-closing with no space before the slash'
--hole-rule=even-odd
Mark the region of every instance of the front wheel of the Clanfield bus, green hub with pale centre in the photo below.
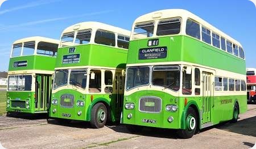
<svg viewBox="0 0 256 149">
<path fill-rule="evenodd" d="M 192 107 L 188 108 L 187 115 L 185 118 L 185 129 L 177 131 L 180 138 L 188 139 L 191 138 L 197 129 L 197 116 L 196 112 Z"/>
</svg>

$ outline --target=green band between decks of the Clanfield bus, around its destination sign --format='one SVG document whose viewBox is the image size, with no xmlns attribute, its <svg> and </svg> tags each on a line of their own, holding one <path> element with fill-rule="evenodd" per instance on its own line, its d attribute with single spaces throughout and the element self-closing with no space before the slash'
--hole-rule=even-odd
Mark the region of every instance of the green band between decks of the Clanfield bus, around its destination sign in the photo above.
<svg viewBox="0 0 256 149">
<path fill-rule="evenodd" d="M 159 45 L 154 47 L 167 46 L 167 57 L 139 59 L 139 49 L 148 48 L 148 40 L 130 41 L 127 64 L 184 61 L 246 74 L 245 60 L 188 36 L 160 37 Z"/>
</svg>

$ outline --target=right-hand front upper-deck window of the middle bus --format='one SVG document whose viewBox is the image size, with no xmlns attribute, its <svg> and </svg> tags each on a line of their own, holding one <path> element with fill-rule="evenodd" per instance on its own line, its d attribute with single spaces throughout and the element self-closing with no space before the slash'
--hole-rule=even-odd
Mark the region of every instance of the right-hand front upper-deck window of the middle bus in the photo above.
<svg viewBox="0 0 256 149">
<path fill-rule="evenodd" d="M 92 36 L 92 31 L 90 29 L 78 31 L 76 35 L 76 44 L 88 44 L 90 42 L 90 36 Z"/>
</svg>

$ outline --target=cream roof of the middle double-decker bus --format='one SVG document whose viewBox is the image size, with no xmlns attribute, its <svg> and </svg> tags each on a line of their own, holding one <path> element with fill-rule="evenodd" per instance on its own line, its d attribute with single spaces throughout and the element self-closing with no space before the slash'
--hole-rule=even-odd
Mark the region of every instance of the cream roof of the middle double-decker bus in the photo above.
<svg viewBox="0 0 256 149">
<path fill-rule="evenodd" d="M 126 35 L 126 36 L 130 36 L 130 34 L 131 34 L 131 32 L 126 29 L 114 27 L 112 25 L 108 25 L 108 24 L 104 24 L 104 23 L 100 23 L 100 22 L 77 23 L 77 24 L 71 25 L 70 27 L 65 28 L 64 31 L 62 32 L 62 34 L 68 33 L 68 32 L 73 32 L 73 31 L 80 31 L 83 29 L 103 29 L 106 31 L 116 32 L 116 33 Z"/>
</svg>

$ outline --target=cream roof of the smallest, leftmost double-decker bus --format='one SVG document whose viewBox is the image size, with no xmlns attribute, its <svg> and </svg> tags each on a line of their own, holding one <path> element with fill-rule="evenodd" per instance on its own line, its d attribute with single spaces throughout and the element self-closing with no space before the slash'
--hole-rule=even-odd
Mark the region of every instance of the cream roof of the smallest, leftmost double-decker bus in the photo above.
<svg viewBox="0 0 256 149">
<path fill-rule="evenodd" d="M 13 42 L 13 44 L 19 44 L 19 43 L 28 42 L 28 41 L 43 41 L 43 42 L 49 42 L 49 43 L 58 44 L 58 45 L 60 43 L 60 41 L 56 39 L 50 39 L 50 38 L 41 37 L 41 36 L 33 36 L 33 37 L 26 37 L 23 39 L 16 40 Z"/>
</svg>

